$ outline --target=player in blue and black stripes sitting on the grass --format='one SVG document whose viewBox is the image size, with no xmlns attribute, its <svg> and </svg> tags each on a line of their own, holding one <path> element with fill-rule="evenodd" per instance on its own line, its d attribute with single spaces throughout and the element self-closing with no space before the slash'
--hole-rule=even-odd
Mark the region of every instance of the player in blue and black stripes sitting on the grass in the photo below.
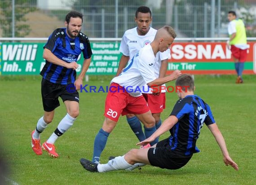
<svg viewBox="0 0 256 185">
<path fill-rule="evenodd" d="M 179 89 L 177 95 L 180 99 L 176 102 L 170 116 L 149 138 L 137 145 L 147 145 L 168 130 L 171 132 L 170 137 L 150 148 L 132 149 L 106 164 L 95 164 L 87 159 L 80 159 L 82 166 L 91 172 L 133 170 L 146 164 L 171 170 L 179 169 L 189 162 L 194 153 L 199 152 L 196 141 L 205 123 L 221 148 L 225 165 L 231 165 L 238 170 L 238 165 L 230 158 L 210 107 L 199 96 L 194 95 L 193 78 L 183 74 L 177 78 L 176 86 Z"/>
</svg>

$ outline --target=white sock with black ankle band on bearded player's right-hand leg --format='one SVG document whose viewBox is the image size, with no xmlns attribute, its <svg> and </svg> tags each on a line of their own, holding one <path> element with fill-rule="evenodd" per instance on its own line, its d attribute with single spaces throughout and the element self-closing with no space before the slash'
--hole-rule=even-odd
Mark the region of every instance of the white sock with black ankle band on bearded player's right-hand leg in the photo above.
<svg viewBox="0 0 256 185">
<path fill-rule="evenodd" d="M 71 126 L 73 125 L 75 118 L 72 118 L 68 113 L 58 124 L 57 129 L 53 132 L 53 134 L 46 141 L 48 143 L 54 144 L 59 136 L 65 133 Z"/>
</svg>

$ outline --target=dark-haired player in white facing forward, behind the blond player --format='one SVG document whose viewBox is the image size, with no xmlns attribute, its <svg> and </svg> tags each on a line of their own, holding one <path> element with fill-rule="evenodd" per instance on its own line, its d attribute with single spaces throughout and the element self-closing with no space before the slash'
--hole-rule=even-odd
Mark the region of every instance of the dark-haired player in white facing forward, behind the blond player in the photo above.
<svg viewBox="0 0 256 185">
<path fill-rule="evenodd" d="M 154 40 L 154 36 L 157 30 L 150 27 L 151 21 L 152 14 L 150 8 L 146 6 L 140 6 L 135 13 L 135 22 L 137 23 L 137 26 L 125 31 L 121 40 L 119 51 L 123 53 L 123 55 L 119 62 L 119 67 L 116 74 L 117 76 L 122 72 L 129 59 L 132 58 L 137 53 L 137 51 L 139 51 L 147 44 L 150 44 Z M 154 64 L 154 76 L 156 78 L 162 78 L 165 76 L 169 57 L 170 49 L 159 53 L 159 58 Z M 152 93 L 151 90 L 152 89 L 149 89 L 146 85 L 143 96 L 145 97 L 151 113 L 155 119 L 155 127 L 158 129 L 162 123 L 160 119 L 161 112 L 163 112 L 163 109 L 165 109 L 165 90 L 161 93 Z M 128 124 L 132 128 L 132 131 L 135 133 L 139 141 L 145 140 L 154 132 L 153 130 L 149 130 L 148 128 L 144 127 L 144 135 L 141 122 L 135 115 L 127 114 L 126 118 Z M 154 145 L 157 142 L 158 138 L 156 138 L 156 140 L 150 144 Z"/>
</svg>

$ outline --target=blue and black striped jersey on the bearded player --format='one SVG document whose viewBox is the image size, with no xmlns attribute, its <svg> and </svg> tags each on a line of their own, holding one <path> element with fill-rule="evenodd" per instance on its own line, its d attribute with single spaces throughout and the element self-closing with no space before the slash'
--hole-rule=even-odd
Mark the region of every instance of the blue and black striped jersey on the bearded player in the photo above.
<svg viewBox="0 0 256 185">
<path fill-rule="evenodd" d="M 49 49 L 56 57 L 64 62 L 77 62 L 83 52 L 84 58 L 92 56 L 92 50 L 88 37 L 79 33 L 75 39 L 66 34 L 66 28 L 58 28 L 50 35 L 44 48 Z M 66 67 L 45 61 L 44 68 L 40 72 L 44 79 L 55 84 L 73 84 L 76 79 L 76 71 Z"/>
</svg>

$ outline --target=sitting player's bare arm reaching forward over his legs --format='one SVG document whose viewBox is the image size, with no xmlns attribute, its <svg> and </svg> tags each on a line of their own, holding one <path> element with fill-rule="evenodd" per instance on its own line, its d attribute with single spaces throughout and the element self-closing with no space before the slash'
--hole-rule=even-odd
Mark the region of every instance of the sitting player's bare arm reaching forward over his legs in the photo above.
<svg viewBox="0 0 256 185">
<path fill-rule="evenodd" d="M 155 138 L 161 136 L 163 133 L 170 130 L 173 127 L 173 125 L 175 125 L 177 122 L 178 119 L 176 116 L 169 116 L 167 119 L 163 121 L 162 125 L 150 137 L 148 137 L 144 141 L 137 143 L 136 145 L 147 145 L 148 143 L 151 143 L 152 141 L 155 140 Z"/>
</svg>

